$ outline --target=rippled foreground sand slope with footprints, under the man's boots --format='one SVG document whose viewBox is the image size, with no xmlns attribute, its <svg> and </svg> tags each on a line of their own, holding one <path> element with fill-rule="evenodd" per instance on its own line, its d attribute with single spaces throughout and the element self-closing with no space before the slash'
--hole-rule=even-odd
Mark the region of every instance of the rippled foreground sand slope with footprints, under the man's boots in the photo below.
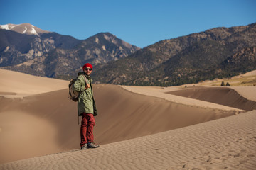
<svg viewBox="0 0 256 170">
<path fill-rule="evenodd" d="M 256 112 L 125 140 L 1 164 L 0 169 L 256 168 Z"/>
</svg>

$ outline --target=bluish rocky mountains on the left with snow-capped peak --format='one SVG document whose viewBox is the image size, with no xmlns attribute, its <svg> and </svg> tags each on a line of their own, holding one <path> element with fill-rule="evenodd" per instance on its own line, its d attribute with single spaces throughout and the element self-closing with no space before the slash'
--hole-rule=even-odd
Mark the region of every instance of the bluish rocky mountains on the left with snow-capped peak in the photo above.
<svg viewBox="0 0 256 170">
<path fill-rule="evenodd" d="M 67 77 L 86 62 L 107 63 L 139 50 L 111 33 L 77 40 L 28 23 L 0 28 L 0 67 L 42 77 Z"/>
</svg>

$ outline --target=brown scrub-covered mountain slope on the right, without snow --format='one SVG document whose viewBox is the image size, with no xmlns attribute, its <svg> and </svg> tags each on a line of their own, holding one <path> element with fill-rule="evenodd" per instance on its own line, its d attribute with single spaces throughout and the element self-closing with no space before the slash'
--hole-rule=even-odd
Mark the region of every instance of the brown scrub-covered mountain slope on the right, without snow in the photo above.
<svg viewBox="0 0 256 170">
<path fill-rule="evenodd" d="M 174 86 L 256 69 L 256 23 L 162 40 L 97 66 L 100 83 Z M 112 68 L 106 72 L 107 68 Z"/>
</svg>

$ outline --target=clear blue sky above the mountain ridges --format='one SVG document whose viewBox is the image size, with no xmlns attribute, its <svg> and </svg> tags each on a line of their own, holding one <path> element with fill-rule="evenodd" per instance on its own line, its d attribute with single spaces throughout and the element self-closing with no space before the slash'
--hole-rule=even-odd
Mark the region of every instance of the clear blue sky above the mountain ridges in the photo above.
<svg viewBox="0 0 256 170">
<path fill-rule="evenodd" d="M 31 23 L 80 40 L 109 32 L 138 47 L 255 22 L 255 0 L 0 0 L 1 25 Z"/>
</svg>

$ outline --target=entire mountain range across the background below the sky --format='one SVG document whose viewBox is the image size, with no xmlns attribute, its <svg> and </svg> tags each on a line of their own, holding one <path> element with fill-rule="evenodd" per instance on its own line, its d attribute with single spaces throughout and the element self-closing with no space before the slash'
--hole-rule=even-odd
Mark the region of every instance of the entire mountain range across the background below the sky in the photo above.
<svg viewBox="0 0 256 170">
<path fill-rule="evenodd" d="M 19 27 L 1 26 L 0 67 L 43 77 L 70 79 L 90 62 L 95 83 L 173 86 L 256 68 L 256 23 L 213 28 L 142 49 L 111 33 L 77 40 L 30 24 Z"/>
</svg>

